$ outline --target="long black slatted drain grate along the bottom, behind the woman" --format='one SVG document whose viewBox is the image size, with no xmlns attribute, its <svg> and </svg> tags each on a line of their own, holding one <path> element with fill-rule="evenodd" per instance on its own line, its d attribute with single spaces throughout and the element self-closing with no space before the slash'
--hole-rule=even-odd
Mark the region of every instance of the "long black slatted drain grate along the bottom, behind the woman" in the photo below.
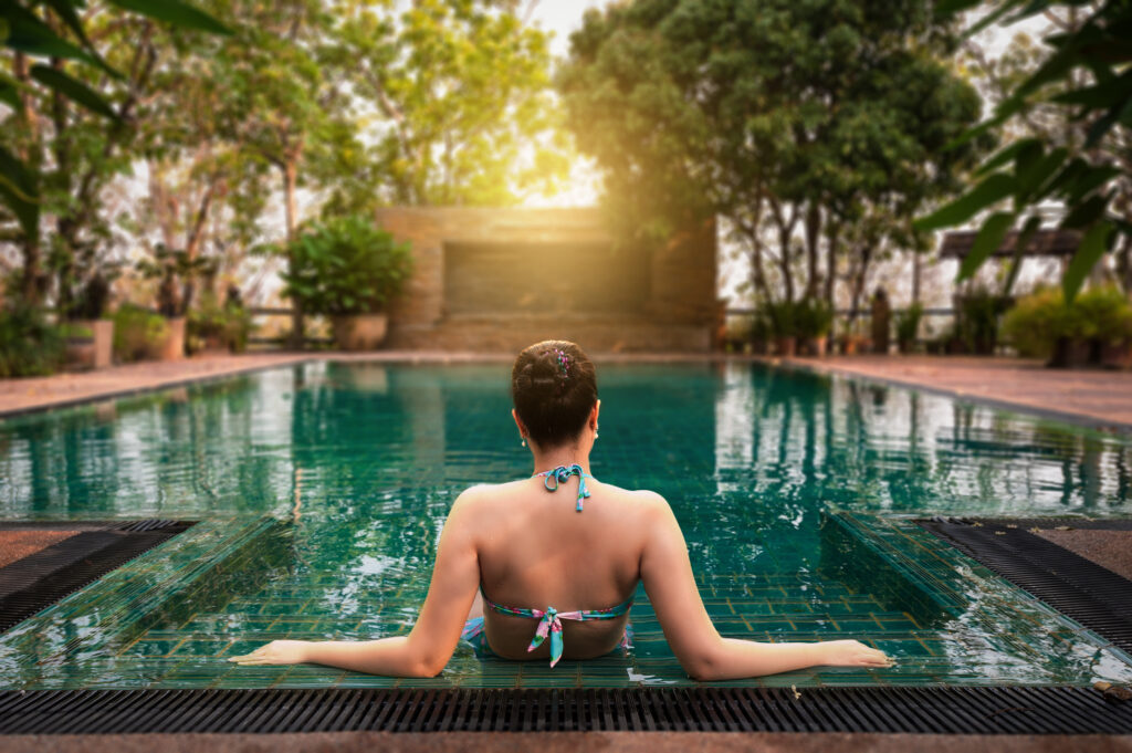
<svg viewBox="0 0 1132 753">
<path fill-rule="evenodd" d="M 861 731 L 1129 734 L 1082 687 L 122 690 L 0 693 L 0 734 Z"/>
</svg>

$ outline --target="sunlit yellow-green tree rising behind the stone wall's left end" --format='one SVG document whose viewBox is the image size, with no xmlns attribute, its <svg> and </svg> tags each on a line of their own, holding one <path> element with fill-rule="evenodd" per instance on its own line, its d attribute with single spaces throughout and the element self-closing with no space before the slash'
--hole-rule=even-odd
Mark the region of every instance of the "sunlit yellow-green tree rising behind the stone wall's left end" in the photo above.
<svg viewBox="0 0 1132 753">
<path fill-rule="evenodd" d="M 421 0 L 400 15 L 362 7 L 344 18 L 326 59 L 372 123 L 372 146 L 354 155 L 372 182 L 342 186 L 332 203 L 512 204 L 565 174 L 548 37 L 516 9 Z"/>
</svg>

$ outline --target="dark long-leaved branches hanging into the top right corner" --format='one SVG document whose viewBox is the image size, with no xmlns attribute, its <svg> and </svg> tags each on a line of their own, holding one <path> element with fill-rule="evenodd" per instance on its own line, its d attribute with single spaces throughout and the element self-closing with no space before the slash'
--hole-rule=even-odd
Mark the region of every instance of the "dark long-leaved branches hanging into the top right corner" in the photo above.
<svg viewBox="0 0 1132 753">
<path fill-rule="evenodd" d="M 945 3 L 941 11 L 953 15 L 975 5 L 974 0 Z M 1072 8 L 1081 22 L 1046 36 L 1048 58 L 1014 86 L 989 120 L 957 144 L 1002 126 L 1035 103 L 1062 109 L 1069 140 L 1056 143 L 1049 135 L 1015 140 L 984 163 L 979 171 L 984 178 L 977 186 L 917 225 L 926 231 L 961 224 L 1004 199 L 1011 200 L 1009 209 L 983 222 L 976 246 L 960 271 L 960 279 L 967 279 L 1015 223 L 1023 223 L 1015 242 L 1015 251 L 1021 253 L 1029 236 L 1040 226 L 1039 207 L 1056 202 L 1065 207 L 1060 226 L 1078 231 L 1081 238 L 1062 280 L 1065 297 L 1072 301 L 1117 238 L 1124 237 L 1126 253 L 1127 237 L 1132 236 L 1132 223 L 1122 206 L 1127 202 L 1126 188 L 1121 188 L 1129 180 L 1132 164 L 1127 138 L 1132 126 L 1132 46 L 1127 42 L 1132 3 L 994 0 L 990 6 L 993 10 L 979 27 L 1002 18 L 1013 23 L 1055 8 Z M 1080 131 L 1080 137 L 1074 131 Z M 1065 140 L 1063 135 L 1057 138 Z"/>
</svg>

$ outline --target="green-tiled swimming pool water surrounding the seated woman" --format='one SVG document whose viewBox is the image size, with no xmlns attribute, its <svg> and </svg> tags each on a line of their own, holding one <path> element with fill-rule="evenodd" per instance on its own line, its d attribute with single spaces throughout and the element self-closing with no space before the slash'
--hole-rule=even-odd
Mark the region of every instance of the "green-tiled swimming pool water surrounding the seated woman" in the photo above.
<svg viewBox="0 0 1132 753">
<path fill-rule="evenodd" d="M 472 484 L 531 472 L 508 366 L 310 362 L 0 422 L 0 519 L 200 521 L 0 635 L 5 687 L 691 684 L 643 592 L 629 656 L 430 679 L 235 667 L 406 632 Z M 724 635 L 858 638 L 893 669 L 734 684 L 1086 684 L 1129 657 L 911 517 L 1127 515 L 1126 435 L 757 363 L 599 366 L 592 470 L 664 495 Z M 720 683 L 726 684 L 726 683 Z"/>
</svg>

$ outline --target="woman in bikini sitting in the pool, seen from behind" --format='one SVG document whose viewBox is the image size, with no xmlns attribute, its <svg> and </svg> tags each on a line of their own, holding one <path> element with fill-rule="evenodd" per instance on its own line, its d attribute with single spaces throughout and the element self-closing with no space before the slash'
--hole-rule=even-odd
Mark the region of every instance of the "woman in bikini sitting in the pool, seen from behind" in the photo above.
<svg viewBox="0 0 1132 753">
<path fill-rule="evenodd" d="M 408 636 L 273 641 L 231 661 L 431 677 L 462 635 L 478 651 L 507 659 L 549 658 L 551 665 L 561 657 L 590 659 L 627 644 L 628 611 L 641 581 L 664 638 L 695 679 L 816 665 L 891 666 L 883 652 L 857 641 L 756 643 L 719 635 L 668 503 L 590 476 L 601 401 L 593 363 L 581 348 L 546 341 L 525 349 L 512 370 L 512 417 L 534 456 L 535 473 L 460 495 Z"/>
</svg>

